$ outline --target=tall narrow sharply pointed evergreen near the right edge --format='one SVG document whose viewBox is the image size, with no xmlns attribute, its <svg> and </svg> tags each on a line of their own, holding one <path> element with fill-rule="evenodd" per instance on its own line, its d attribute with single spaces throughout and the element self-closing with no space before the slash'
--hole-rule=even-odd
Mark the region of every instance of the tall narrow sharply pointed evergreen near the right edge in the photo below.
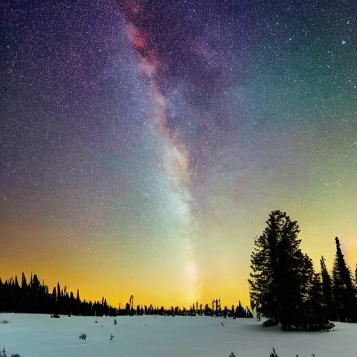
<svg viewBox="0 0 357 357">
<path fill-rule="evenodd" d="M 333 298 L 337 321 L 357 321 L 356 289 L 352 281 L 351 270 L 344 260 L 340 240 L 336 237 L 336 256 L 333 264 Z"/>
</svg>

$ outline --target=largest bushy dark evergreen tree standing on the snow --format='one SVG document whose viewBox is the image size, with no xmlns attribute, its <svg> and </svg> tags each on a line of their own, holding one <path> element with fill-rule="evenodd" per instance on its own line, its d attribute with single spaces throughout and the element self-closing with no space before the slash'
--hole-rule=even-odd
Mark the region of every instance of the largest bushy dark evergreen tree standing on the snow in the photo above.
<svg viewBox="0 0 357 357">
<path fill-rule="evenodd" d="M 271 324 L 281 323 L 284 330 L 306 325 L 304 304 L 314 271 L 311 259 L 301 251 L 298 223 L 273 211 L 266 224 L 251 255 L 250 298 Z"/>
</svg>

